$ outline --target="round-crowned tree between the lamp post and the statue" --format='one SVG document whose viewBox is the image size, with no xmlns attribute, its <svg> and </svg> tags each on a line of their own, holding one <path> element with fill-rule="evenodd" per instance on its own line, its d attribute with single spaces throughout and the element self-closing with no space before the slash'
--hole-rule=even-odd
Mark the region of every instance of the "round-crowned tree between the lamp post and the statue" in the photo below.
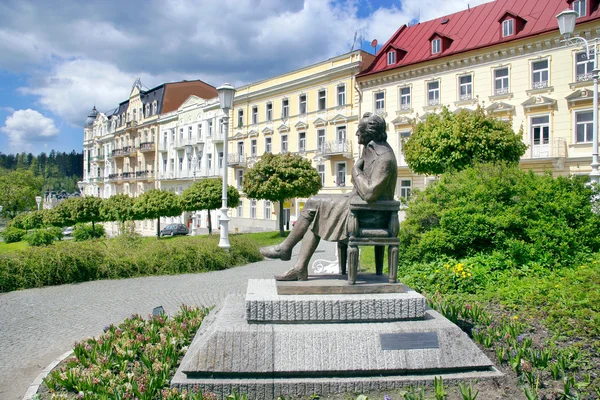
<svg viewBox="0 0 600 400">
<path fill-rule="evenodd" d="M 283 202 L 310 197 L 321 189 L 321 177 L 310 161 L 297 154 L 266 153 L 244 176 L 249 198 L 279 202 L 279 234 L 283 237 Z"/>
</svg>

